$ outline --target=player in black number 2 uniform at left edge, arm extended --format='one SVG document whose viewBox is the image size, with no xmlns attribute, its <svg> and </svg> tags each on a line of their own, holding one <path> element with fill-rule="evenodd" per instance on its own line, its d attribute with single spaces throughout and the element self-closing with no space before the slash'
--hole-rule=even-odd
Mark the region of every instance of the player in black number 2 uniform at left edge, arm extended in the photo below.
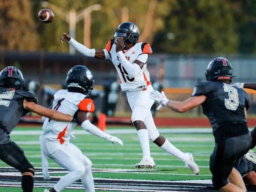
<svg viewBox="0 0 256 192">
<path fill-rule="evenodd" d="M 0 159 L 22 173 L 23 192 L 32 192 L 34 167 L 28 162 L 23 150 L 10 139 L 10 133 L 20 117 L 29 111 L 57 121 L 76 121 L 72 116 L 37 105 L 33 93 L 23 91 L 21 71 L 9 66 L 0 72 Z"/>
</svg>

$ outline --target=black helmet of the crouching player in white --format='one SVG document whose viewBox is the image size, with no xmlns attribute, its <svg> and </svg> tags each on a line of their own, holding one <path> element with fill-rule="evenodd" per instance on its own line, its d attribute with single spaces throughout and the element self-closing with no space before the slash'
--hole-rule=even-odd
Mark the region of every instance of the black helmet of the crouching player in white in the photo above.
<svg viewBox="0 0 256 192">
<path fill-rule="evenodd" d="M 83 89 L 87 95 L 90 95 L 93 89 L 93 82 L 92 72 L 83 65 L 72 67 L 66 77 L 67 88 L 77 87 Z"/>
</svg>

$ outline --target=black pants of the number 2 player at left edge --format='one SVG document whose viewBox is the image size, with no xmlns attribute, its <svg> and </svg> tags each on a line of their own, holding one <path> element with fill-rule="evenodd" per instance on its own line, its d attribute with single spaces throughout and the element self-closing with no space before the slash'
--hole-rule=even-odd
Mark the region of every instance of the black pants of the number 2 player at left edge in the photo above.
<svg viewBox="0 0 256 192">
<path fill-rule="evenodd" d="M 28 162 L 23 150 L 12 141 L 0 144 L 0 159 L 21 173 L 26 172 L 29 168 L 34 169 L 33 165 Z"/>
</svg>

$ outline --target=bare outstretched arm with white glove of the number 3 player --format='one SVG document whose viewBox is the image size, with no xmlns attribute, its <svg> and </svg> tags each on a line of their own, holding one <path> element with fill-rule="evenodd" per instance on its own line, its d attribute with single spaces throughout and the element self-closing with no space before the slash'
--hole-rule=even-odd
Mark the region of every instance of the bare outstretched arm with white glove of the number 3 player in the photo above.
<svg viewBox="0 0 256 192">
<path fill-rule="evenodd" d="M 206 96 L 204 95 L 194 96 L 185 101 L 174 101 L 174 100 L 168 100 L 164 92 L 160 93 L 159 91 L 153 91 L 150 93 L 150 98 L 156 100 L 162 106 L 167 106 L 173 111 L 184 113 L 202 104 L 205 101 Z"/>
</svg>

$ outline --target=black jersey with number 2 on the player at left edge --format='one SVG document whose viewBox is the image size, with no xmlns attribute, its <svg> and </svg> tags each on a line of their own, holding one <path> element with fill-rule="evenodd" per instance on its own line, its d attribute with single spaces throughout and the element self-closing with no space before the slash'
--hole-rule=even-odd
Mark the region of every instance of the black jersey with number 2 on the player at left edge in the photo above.
<svg viewBox="0 0 256 192">
<path fill-rule="evenodd" d="M 10 133 L 20 117 L 29 112 L 23 107 L 24 99 L 37 103 L 36 96 L 31 92 L 0 89 L 0 129 Z"/>
</svg>

